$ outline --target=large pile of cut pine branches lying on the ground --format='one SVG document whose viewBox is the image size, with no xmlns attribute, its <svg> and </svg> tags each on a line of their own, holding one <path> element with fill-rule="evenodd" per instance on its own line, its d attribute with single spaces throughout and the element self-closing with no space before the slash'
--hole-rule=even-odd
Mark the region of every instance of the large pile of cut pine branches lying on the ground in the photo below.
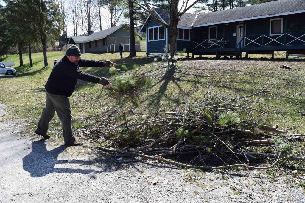
<svg viewBox="0 0 305 203">
<path fill-rule="evenodd" d="M 158 119 L 133 123 L 124 117 L 124 123 L 97 131 L 127 148 L 99 149 L 201 169 L 235 166 L 261 169 L 282 159 L 305 160 L 303 147 L 297 144 L 304 134 L 289 134 L 294 127 L 280 130 L 270 126 L 276 109 L 264 101 L 275 97 L 267 95 L 269 91 L 265 90 L 240 97 L 212 95 L 207 91 L 204 99 L 185 103 L 175 112 L 164 112 Z M 166 159 L 173 155 L 188 155 L 188 162 L 193 165 Z M 251 163 L 259 158 L 274 162 L 266 167 L 253 166 Z"/>
</svg>

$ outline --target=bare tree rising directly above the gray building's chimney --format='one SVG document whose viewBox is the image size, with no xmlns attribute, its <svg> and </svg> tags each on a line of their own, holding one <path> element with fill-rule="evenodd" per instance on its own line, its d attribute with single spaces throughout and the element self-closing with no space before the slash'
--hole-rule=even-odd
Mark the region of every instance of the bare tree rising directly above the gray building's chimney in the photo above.
<svg viewBox="0 0 305 203">
<path fill-rule="evenodd" d="M 84 12 L 84 20 L 86 22 L 86 30 L 88 34 L 90 34 L 90 30 L 94 29 L 94 3 L 94 0 L 82 0 L 82 12 Z"/>
</svg>

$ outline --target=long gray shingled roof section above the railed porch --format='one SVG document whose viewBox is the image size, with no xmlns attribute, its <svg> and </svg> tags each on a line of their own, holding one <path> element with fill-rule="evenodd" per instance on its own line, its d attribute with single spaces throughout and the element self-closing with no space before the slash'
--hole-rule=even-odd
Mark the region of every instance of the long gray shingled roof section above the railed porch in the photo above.
<svg viewBox="0 0 305 203">
<path fill-rule="evenodd" d="M 215 25 L 247 19 L 266 18 L 305 12 L 304 0 L 279 0 L 235 9 L 203 13 L 197 16 L 194 27 Z"/>
</svg>

